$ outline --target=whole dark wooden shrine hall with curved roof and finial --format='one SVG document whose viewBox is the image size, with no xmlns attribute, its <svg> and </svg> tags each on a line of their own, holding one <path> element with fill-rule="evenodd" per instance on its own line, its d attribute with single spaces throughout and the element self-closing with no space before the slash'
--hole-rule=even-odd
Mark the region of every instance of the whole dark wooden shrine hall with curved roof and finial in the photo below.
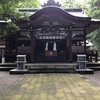
<svg viewBox="0 0 100 100">
<path fill-rule="evenodd" d="M 86 36 L 100 27 L 100 20 L 87 17 L 82 9 L 62 9 L 54 0 L 48 0 L 41 9 L 19 8 L 30 13 L 28 20 L 20 19 L 17 34 L 5 38 L 6 62 L 16 61 L 16 55 L 26 55 L 27 62 L 76 62 L 78 54 L 95 56 L 87 51 Z"/>
</svg>

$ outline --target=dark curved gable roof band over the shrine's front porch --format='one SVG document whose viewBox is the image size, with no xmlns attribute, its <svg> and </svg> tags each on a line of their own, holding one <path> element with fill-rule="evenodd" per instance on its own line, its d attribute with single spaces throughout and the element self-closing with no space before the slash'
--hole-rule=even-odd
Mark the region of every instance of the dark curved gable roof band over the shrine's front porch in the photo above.
<svg viewBox="0 0 100 100">
<path fill-rule="evenodd" d="M 78 22 L 81 22 L 81 21 L 86 22 L 86 21 L 91 20 L 90 17 L 77 17 L 74 15 L 71 15 L 67 11 L 65 11 L 59 7 L 55 7 L 55 6 L 48 6 L 48 7 L 40 9 L 39 11 L 34 13 L 32 16 L 30 16 L 30 20 L 34 21 L 35 19 L 38 19 L 39 17 L 41 17 L 44 14 L 45 15 L 51 14 L 51 15 L 61 16 L 65 20 L 71 20 L 71 21 L 75 21 L 75 22 L 77 22 L 77 21 Z"/>
</svg>

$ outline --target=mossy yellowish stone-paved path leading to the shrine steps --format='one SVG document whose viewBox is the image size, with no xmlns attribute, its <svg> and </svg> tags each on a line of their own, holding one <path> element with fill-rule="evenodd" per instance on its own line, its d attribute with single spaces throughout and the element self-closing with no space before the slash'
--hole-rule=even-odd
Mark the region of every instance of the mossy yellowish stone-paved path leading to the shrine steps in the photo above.
<svg viewBox="0 0 100 100">
<path fill-rule="evenodd" d="M 100 88 L 79 74 L 27 74 L 0 100 L 100 100 Z"/>
</svg>

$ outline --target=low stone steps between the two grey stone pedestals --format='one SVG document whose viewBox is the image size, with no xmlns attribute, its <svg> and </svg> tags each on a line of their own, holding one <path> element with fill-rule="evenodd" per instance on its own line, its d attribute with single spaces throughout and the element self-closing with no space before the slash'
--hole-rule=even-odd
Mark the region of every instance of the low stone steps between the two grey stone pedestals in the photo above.
<svg viewBox="0 0 100 100">
<path fill-rule="evenodd" d="M 75 73 L 76 64 L 27 64 L 28 73 Z"/>
</svg>

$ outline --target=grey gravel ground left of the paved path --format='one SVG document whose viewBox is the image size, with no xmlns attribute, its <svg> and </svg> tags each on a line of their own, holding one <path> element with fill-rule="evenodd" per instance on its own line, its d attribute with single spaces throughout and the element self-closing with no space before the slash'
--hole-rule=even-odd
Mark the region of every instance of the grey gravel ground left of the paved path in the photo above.
<svg viewBox="0 0 100 100">
<path fill-rule="evenodd" d="M 9 72 L 0 71 L 0 95 L 15 84 L 23 75 L 10 75 Z"/>
</svg>

